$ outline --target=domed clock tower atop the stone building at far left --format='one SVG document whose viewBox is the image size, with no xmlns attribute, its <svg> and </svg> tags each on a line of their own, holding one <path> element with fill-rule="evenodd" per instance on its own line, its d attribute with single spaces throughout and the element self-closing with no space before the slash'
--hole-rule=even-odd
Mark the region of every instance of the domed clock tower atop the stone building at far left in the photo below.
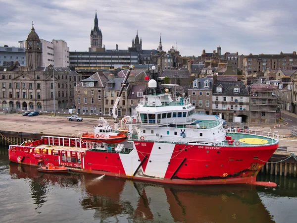
<svg viewBox="0 0 297 223">
<path fill-rule="evenodd" d="M 30 68 L 42 66 L 42 48 L 39 36 L 35 32 L 33 22 L 31 32 L 26 40 L 26 64 Z"/>
</svg>

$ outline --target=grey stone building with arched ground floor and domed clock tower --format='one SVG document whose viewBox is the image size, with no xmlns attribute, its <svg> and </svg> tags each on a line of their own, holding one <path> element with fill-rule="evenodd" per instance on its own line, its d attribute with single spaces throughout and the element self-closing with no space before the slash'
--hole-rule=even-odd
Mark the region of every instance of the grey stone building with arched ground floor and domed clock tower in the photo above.
<svg viewBox="0 0 297 223">
<path fill-rule="evenodd" d="M 33 25 L 26 46 L 27 66 L 0 67 L 0 108 L 47 112 L 72 108 L 80 75 L 68 67 L 42 66 L 40 39 Z"/>
</svg>

